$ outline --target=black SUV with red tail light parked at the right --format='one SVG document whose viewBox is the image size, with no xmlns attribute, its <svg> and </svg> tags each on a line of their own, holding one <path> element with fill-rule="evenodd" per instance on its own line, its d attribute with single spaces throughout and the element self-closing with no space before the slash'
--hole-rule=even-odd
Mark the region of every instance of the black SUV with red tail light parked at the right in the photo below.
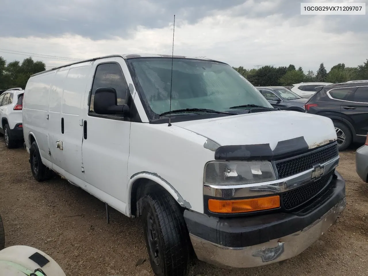
<svg viewBox="0 0 368 276">
<path fill-rule="evenodd" d="M 368 82 L 323 86 L 309 98 L 305 112 L 332 119 L 340 151 L 351 142 L 364 144 L 368 132 Z"/>
</svg>

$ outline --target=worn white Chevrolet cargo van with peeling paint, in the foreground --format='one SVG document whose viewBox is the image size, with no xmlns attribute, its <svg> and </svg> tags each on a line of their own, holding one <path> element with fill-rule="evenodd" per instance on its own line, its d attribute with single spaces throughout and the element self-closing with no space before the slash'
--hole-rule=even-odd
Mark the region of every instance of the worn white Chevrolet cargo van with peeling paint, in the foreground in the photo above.
<svg viewBox="0 0 368 276">
<path fill-rule="evenodd" d="M 192 256 L 245 268 L 313 244 L 345 208 L 327 117 L 273 109 L 229 65 L 114 55 L 33 75 L 23 127 L 33 176 L 50 170 L 142 216 L 153 271 Z"/>
</svg>

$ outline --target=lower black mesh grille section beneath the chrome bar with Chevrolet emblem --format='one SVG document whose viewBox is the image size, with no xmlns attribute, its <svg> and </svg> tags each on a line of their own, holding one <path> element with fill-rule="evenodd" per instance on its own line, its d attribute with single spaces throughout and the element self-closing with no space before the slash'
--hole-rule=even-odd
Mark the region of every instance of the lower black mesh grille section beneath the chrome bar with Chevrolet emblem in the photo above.
<svg viewBox="0 0 368 276">
<path fill-rule="evenodd" d="M 327 184 L 329 184 L 329 180 L 333 172 L 334 170 L 330 171 L 325 176 L 322 176 L 319 178 L 319 180 L 305 184 L 300 188 L 284 192 L 282 194 L 284 208 L 286 210 L 294 209 L 313 198 L 315 195 L 321 192 Z"/>
</svg>

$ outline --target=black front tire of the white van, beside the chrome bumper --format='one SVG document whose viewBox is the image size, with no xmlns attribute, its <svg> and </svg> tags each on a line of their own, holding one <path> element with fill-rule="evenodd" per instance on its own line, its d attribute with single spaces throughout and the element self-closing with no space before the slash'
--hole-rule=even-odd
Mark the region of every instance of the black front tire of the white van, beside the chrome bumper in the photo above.
<svg viewBox="0 0 368 276">
<path fill-rule="evenodd" d="M 142 220 L 153 272 L 159 276 L 187 275 L 191 242 L 177 202 L 162 191 L 146 195 Z"/>
</svg>

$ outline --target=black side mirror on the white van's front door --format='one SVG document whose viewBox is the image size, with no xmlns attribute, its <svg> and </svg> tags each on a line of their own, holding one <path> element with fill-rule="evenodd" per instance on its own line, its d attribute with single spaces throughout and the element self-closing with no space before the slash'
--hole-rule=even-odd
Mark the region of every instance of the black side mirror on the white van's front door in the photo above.
<svg viewBox="0 0 368 276">
<path fill-rule="evenodd" d="M 93 109 L 97 114 L 101 115 L 125 115 L 129 112 L 127 105 L 117 105 L 116 90 L 109 87 L 96 89 L 93 99 Z"/>
</svg>

